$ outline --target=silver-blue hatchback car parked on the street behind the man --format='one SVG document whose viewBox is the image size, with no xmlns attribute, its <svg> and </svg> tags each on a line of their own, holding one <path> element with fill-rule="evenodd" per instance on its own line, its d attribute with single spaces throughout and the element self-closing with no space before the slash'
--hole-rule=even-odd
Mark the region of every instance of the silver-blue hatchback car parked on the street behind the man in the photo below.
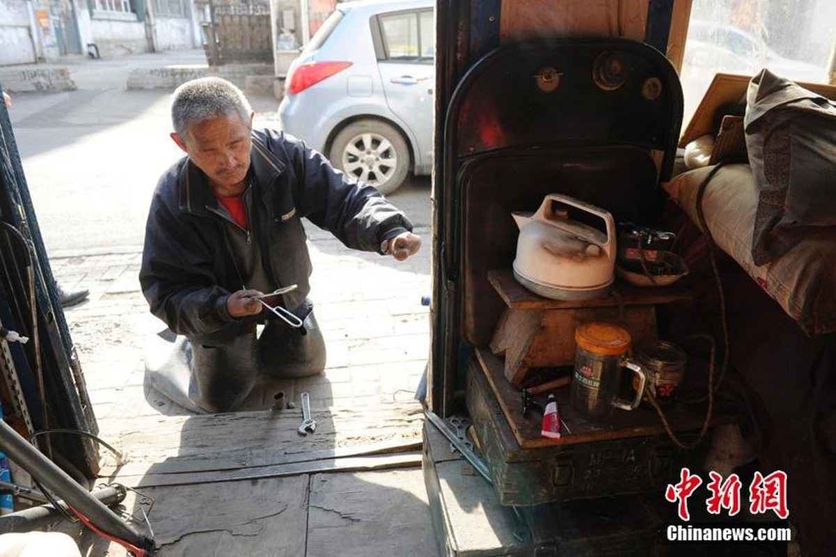
<svg viewBox="0 0 836 557">
<path fill-rule="evenodd" d="M 358 180 L 394 192 L 432 168 L 434 0 L 337 8 L 290 64 L 282 129 Z"/>
</svg>

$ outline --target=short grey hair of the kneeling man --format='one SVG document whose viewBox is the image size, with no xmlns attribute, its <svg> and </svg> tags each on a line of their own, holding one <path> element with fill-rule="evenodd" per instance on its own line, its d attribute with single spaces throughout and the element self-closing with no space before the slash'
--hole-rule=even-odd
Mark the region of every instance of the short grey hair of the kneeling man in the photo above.
<svg viewBox="0 0 836 557">
<path fill-rule="evenodd" d="M 183 140 L 189 126 L 233 114 L 248 124 L 252 107 L 241 89 L 226 79 L 206 77 L 186 81 L 175 89 L 171 100 L 171 123 Z"/>
</svg>

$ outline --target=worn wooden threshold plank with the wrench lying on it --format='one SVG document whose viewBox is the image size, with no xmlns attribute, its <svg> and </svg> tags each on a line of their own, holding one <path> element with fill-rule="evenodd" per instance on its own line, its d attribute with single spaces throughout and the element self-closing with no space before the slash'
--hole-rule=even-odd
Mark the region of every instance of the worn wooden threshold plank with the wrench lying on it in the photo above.
<svg viewBox="0 0 836 557">
<path fill-rule="evenodd" d="M 109 456 L 103 478 L 155 474 L 240 471 L 318 458 L 393 452 L 421 441 L 423 409 L 409 400 L 365 408 L 314 410 L 316 431 L 298 433 L 299 408 L 201 416 L 128 416 L 112 442 L 125 452 Z M 102 424 L 103 429 L 109 429 Z"/>
</svg>

